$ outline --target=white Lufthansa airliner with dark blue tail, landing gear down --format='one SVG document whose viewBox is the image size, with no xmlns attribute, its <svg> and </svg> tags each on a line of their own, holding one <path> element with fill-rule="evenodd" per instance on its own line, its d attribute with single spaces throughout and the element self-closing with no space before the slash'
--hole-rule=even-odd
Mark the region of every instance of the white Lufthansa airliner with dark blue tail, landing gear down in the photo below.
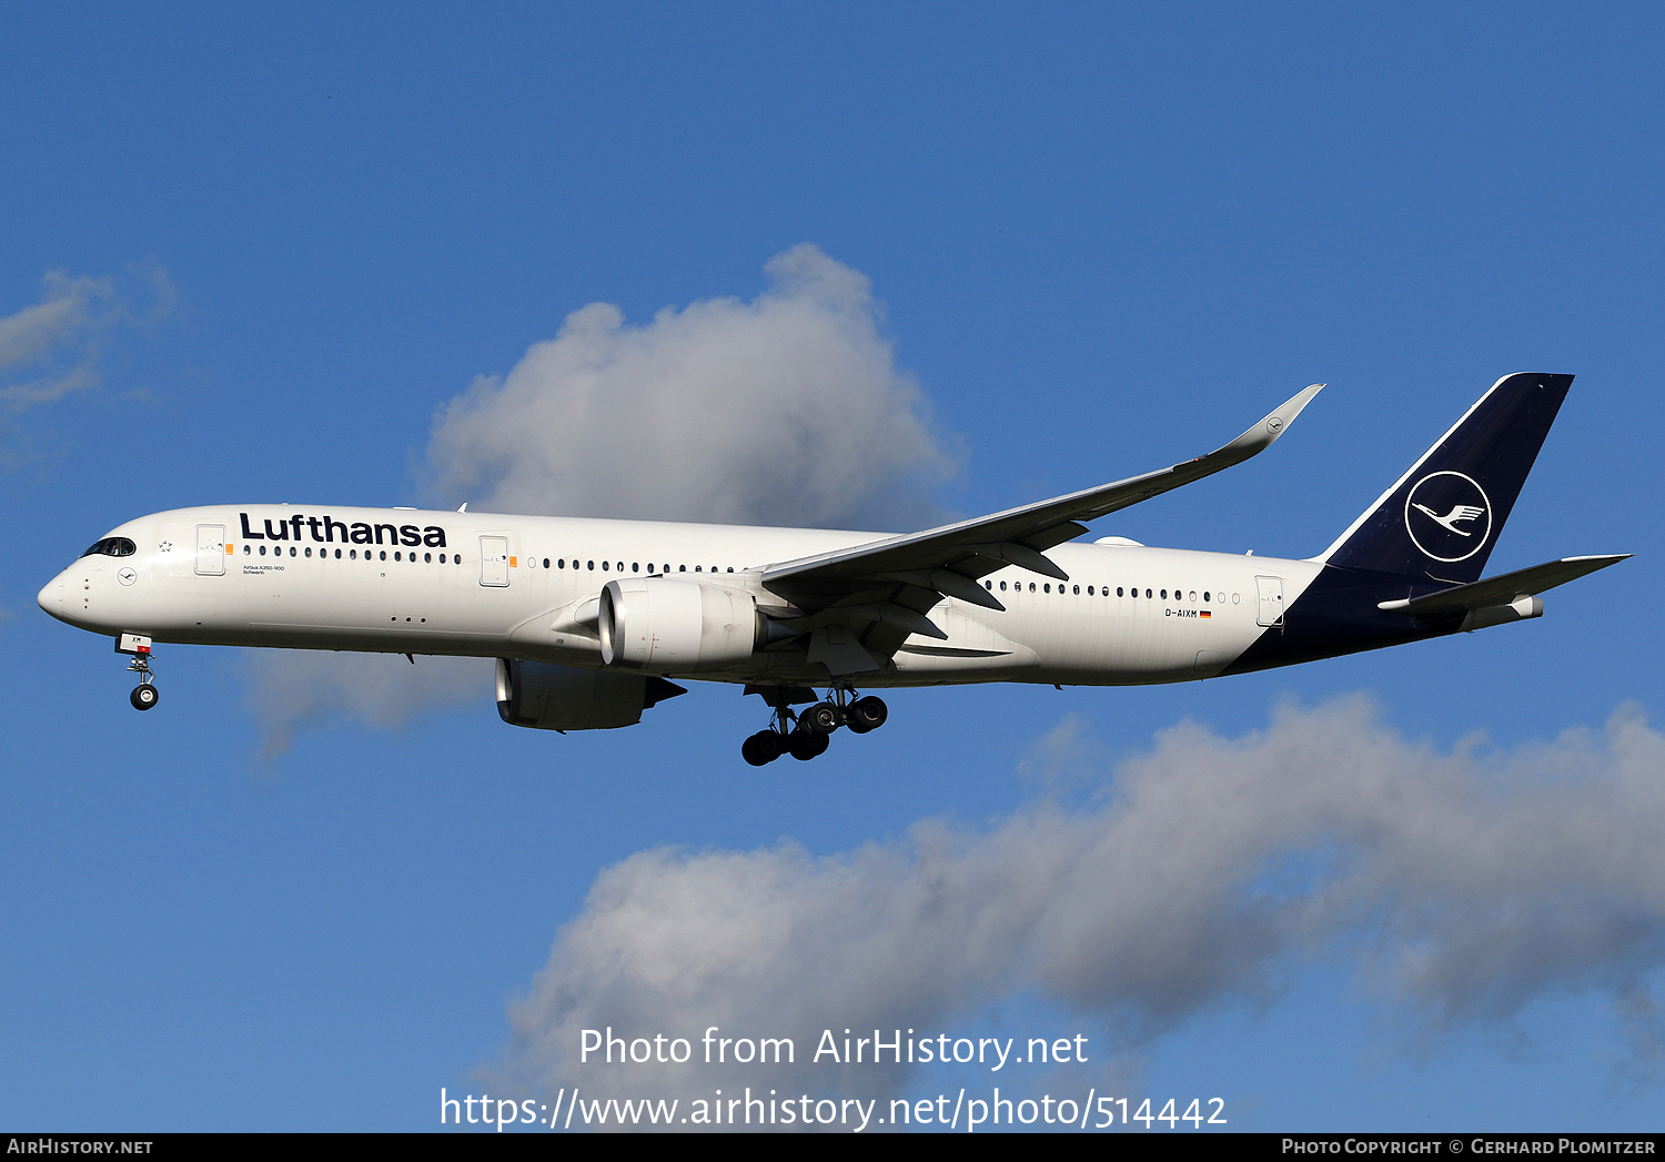
<svg viewBox="0 0 1665 1162">
<path fill-rule="evenodd" d="M 496 659 L 503 721 L 563 732 L 741 684 L 769 709 L 743 757 L 813 759 L 884 724 L 864 691 L 1197 681 L 1537 618 L 1628 556 L 1480 576 L 1570 385 L 1503 376 L 1300 561 L 1077 538 L 1259 454 L 1324 385 L 1197 459 L 922 533 L 226 504 L 112 529 L 40 606 L 115 639 L 142 711 L 157 643 L 453 654 Z"/>
</svg>

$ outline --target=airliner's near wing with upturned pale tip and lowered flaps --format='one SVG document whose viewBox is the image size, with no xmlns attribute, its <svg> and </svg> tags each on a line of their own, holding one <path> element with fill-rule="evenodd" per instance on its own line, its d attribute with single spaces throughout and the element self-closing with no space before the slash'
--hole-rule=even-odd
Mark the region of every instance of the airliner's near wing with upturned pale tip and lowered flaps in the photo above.
<svg viewBox="0 0 1665 1162">
<path fill-rule="evenodd" d="M 879 669 L 879 659 L 894 654 L 912 633 L 946 638 L 926 618 L 944 596 L 1004 609 L 977 584 L 989 573 L 1017 566 L 1067 581 L 1046 549 L 1086 533 L 1081 521 L 1116 513 L 1265 451 L 1322 386 L 1314 383 L 1302 390 L 1205 456 L 924 533 L 769 564 L 763 569 L 763 584 L 804 613 L 786 624 L 799 633 L 811 631 L 811 661 L 824 661 L 834 676 Z"/>
</svg>

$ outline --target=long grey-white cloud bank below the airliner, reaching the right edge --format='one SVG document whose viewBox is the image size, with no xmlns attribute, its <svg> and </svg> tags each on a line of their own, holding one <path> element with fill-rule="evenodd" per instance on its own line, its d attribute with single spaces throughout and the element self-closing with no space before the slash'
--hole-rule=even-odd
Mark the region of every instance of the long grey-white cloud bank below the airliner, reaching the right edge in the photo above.
<svg viewBox="0 0 1665 1162">
<path fill-rule="evenodd" d="M 803 1087 L 823 1029 L 952 1032 L 1024 994 L 1136 1047 L 1325 956 L 1429 1035 L 1607 996 L 1652 1069 L 1662 831 L 1665 737 L 1633 709 L 1508 754 L 1409 741 L 1364 699 L 1237 739 L 1185 723 L 1091 806 L 1047 797 L 982 831 L 927 819 L 839 856 L 654 849 L 606 869 L 513 1006 L 503 1072 L 551 1095 Z M 579 1065 L 581 1030 L 606 1025 L 791 1035 L 799 1064 Z M 897 1072 L 841 1080 L 896 1092 Z"/>
</svg>

